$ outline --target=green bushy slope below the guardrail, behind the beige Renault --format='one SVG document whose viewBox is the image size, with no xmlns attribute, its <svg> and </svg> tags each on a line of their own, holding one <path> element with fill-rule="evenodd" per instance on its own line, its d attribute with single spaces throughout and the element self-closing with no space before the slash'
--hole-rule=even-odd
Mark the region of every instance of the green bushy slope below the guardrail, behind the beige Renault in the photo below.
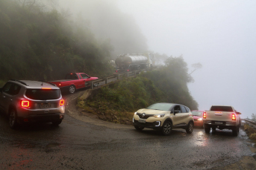
<svg viewBox="0 0 256 170">
<path fill-rule="evenodd" d="M 146 108 L 154 102 L 174 102 L 198 109 L 191 97 L 187 83 L 193 81 L 187 73 L 187 64 L 182 57 L 169 57 L 166 65 L 140 76 L 124 79 L 114 85 L 101 88 L 96 95 L 86 100 L 80 99 L 78 106 L 84 111 L 111 122 L 131 124 L 134 111 Z M 104 115 L 104 116 L 102 116 Z"/>
</svg>

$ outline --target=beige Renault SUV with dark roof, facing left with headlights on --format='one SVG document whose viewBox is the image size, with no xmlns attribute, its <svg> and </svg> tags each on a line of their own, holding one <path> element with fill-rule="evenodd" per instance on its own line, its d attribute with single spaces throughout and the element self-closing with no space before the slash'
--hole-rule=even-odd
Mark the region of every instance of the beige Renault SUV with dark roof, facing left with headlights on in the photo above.
<svg viewBox="0 0 256 170">
<path fill-rule="evenodd" d="M 134 128 L 160 130 L 163 135 L 171 134 L 172 128 L 184 128 L 188 134 L 193 132 L 194 120 L 187 106 L 175 103 L 155 103 L 134 113 Z"/>
</svg>

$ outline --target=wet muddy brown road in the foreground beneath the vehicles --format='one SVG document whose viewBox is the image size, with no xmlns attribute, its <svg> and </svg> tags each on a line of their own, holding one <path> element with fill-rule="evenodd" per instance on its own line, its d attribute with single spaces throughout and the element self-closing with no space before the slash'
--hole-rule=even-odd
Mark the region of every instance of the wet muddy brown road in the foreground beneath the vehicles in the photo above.
<svg viewBox="0 0 256 170">
<path fill-rule="evenodd" d="M 12 130 L 0 116 L 0 169 L 256 169 L 256 148 L 243 130 L 192 134 L 173 130 L 164 137 L 82 116 L 66 95 L 66 117 Z M 255 158 L 254 158 L 255 157 Z"/>
</svg>

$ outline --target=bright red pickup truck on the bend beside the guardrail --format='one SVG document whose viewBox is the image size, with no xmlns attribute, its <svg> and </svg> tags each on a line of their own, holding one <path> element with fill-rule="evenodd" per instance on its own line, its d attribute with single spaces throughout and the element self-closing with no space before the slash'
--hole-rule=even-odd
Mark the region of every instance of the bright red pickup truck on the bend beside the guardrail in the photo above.
<svg viewBox="0 0 256 170">
<path fill-rule="evenodd" d="M 75 93 L 79 88 L 90 86 L 90 81 L 99 79 L 98 77 L 88 76 L 86 73 L 67 73 L 65 79 L 51 81 L 57 85 L 61 91 L 69 91 L 70 94 Z"/>
</svg>

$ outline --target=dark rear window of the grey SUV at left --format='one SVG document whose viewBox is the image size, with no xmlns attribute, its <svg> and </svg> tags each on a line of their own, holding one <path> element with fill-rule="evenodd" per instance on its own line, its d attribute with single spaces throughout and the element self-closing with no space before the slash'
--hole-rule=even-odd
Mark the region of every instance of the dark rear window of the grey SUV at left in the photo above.
<svg viewBox="0 0 256 170">
<path fill-rule="evenodd" d="M 29 99 L 59 99 L 59 89 L 27 89 L 25 96 Z"/>
</svg>

